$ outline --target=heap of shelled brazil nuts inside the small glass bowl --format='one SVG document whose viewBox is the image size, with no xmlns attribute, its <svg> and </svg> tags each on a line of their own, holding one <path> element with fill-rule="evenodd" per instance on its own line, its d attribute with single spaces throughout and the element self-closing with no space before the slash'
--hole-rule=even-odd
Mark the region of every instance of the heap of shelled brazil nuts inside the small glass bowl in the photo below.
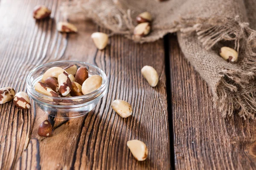
<svg viewBox="0 0 256 170">
<path fill-rule="evenodd" d="M 101 76 L 89 77 L 87 68 L 70 65 L 49 68 L 41 82 L 35 84 L 35 91 L 52 97 L 81 96 L 97 90 L 101 85 Z"/>
</svg>

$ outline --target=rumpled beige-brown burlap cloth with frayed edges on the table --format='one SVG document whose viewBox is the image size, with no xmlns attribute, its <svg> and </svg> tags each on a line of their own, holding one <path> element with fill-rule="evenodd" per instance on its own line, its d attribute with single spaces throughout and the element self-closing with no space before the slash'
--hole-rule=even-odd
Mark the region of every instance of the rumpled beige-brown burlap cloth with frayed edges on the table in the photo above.
<svg viewBox="0 0 256 170">
<path fill-rule="evenodd" d="M 177 32 L 180 48 L 208 83 L 223 116 L 236 112 L 254 119 L 256 0 L 78 0 L 65 3 L 61 10 L 71 20 L 92 19 L 112 34 L 133 40 L 137 14 L 150 12 L 151 33 L 135 41 L 151 42 Z M 238 62 L 219 57 L 223 45 L 239 51 Z"/>
</svg>

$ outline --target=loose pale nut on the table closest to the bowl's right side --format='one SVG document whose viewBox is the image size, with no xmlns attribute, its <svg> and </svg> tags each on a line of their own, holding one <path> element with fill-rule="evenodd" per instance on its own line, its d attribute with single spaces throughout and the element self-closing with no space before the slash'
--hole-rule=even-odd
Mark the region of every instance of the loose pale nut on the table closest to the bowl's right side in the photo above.
<svg viewBox="0 0 256 170">
<path fill-rule="evenodd" d="M 113 110 L 118 113 L 121 117 L 131 116 L 132 108 L 128 102 L 124 100 L 114 100 L 111 104 Z"/>
</svg>

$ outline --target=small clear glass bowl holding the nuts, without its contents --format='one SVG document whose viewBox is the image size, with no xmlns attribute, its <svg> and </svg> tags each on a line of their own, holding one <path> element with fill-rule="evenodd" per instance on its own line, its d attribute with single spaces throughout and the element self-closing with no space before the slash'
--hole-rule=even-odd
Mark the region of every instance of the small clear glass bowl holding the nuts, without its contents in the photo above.
<svg viewBox="0 0 256 170">
<path fill-rule="evenodd" d="M 43 74 L 49 68 L 65 68 L 70 65 L 86 67 L 89 77 L 95 74 L 101 76 L 102 85 L 100 88 L 90 94 L 75 97 L 52 97 L 35 91 L 35 83 L 41 81 Z M 26 78 L 26 88 L 29 97 L 32 98 L 45 113 L 61 119 L 72 119 L 86 115 L 97 105 L 99 100 L 106 94 L 107 82 L 106 74 L 94 65 L 77 61 L 57 61 L 40 65 L 33 69 Z"/>
</svg>

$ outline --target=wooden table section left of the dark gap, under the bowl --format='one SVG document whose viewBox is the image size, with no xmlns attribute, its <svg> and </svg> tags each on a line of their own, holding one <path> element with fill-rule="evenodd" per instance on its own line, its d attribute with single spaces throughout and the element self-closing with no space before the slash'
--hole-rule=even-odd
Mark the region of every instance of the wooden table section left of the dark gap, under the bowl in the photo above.
<svg viewBox="0 0 256 170">
<path fill-rule="evenodd" d="M 90 39 L 99 30 L 93 23 L 74 23 L 78 34 L 56 31 L 56 23 L 63 20 L 61 2 L 0 0 L 0 87 L 25 91 L 32 68 L 72 59 L 102 68 L 108 93 L 87 116 L 65 121 L 48 118 L 34 102 L 28 111 L 13 102 L 0 105 L 0 169 L 170 169 L 163 40 L 140 45 L 114 36 L 106 50 L 99 51 Z M 35 22 L 32 9 L 38 4 L 52 9 L 52 19 Z M 160 74 L 156 88 L 140 74 L 144 65 Z M 116 114 L 110 106 L 114 99 L 131 103 L 132 116 Z M 49 138 L 37 134 L 45 119 L 54 124 Z M 148 146 L 146 161 L 133 158 L 126 146 L 131 139 Z"/>
</svg>

